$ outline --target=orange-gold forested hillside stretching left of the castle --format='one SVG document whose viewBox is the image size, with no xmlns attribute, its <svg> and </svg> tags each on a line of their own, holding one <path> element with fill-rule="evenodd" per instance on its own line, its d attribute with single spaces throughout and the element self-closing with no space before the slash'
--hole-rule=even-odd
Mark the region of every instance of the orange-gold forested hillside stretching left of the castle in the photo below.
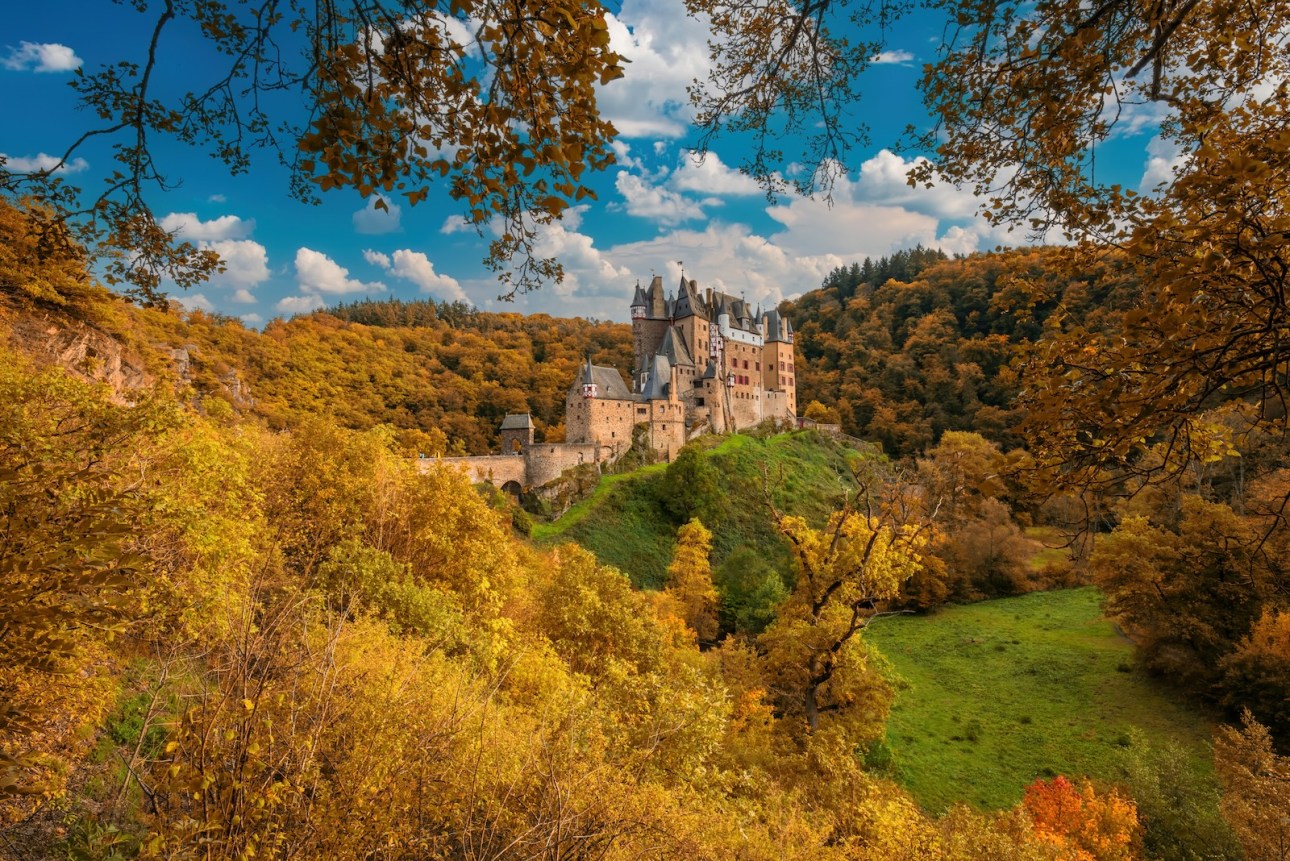
<svg viewBox="0 0 1290 861">
<path fill-rule="evenodd" d="M 98 333 L 112 342 L 101 342 L 104 350 L 137 365 L 137 377 L 178 372 L 209 409 L 224 409 L 215 404 L 223 401 L 273 429 L 326 416 L 355 430 L 390 425 L 412 453 L 488 453 L 502 417 L 526 412 L 538 439 L 562 440 L 577 365 L 587 356 L 624 372 L 632 364 L 626 325 L 431 301 L 353 303 L 272 320 L 257 332 L 203 311 L 123 302 L 88 283 L 75 252 L 45 258 L 39 271 L 21 267 L 35 243 L 19 210 L 0 205 L 8 311 L 55 314 L 53 333 L 48 325 L 19 327 L 19 347 L 102 376 L 104 358 L 85 352 Z"/>
</svg>

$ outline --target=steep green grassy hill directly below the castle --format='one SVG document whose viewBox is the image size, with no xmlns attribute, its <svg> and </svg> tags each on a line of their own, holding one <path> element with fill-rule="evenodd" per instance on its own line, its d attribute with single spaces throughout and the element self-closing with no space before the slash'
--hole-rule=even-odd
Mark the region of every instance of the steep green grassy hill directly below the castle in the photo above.
<svg viewBox="0 0 1290 861">
<path fill-rule="evenodd" d="M 713 567 L 746 550 L 766 568 L 791 571 L 788 547 L 771 524 L 768 488 L 780 510 L 823 523 L 849 487 L 846 458 L 854 449 L 814 431 L 737 434 L 698 444 L 716 484 L 698 512 L 712 529 Z M 637 586 L 659 587 L 680 525 L 668 509 L 667 470 L 659 463 L 605 476 L 593 496 L 555 523 L 537 527 L 534 540 L 575 541 L 600 562 L 627 572 Z"/>
</svg>

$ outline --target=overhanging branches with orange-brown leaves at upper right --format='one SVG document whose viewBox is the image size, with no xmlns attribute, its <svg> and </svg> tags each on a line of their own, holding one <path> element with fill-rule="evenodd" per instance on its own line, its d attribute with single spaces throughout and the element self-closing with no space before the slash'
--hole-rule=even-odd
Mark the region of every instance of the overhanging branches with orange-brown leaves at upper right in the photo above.
<svg viewBox="0 0 1290 861">
<path fill-rule="evenodd" d="M 913 136 L 934 161 L 913 183 L 973 187 L 996 223 L 1084 243 L 1078 271 L 1108 250 L 1142 284 L 1118 332 L 1100 336 L 1058 314 L 1031 364 L 1028 429 L 1041 463 L 1076 481 L 1140 471 L 1144 444 L 1165 439 L 1166 471 L 1213 456 L 1200 414 L 1242 399 L 1246 426 L 1286 416 L 1284 339 L 1290 271 L 1290 8 L 1285 0 L 929 0 L 947 31 L 921 88 L 935 117 Z M 840 72 L 872 45 L 846 18 L 877 23 L 899 4 L 694 0 L 752 35 L 716 49 L 717 71 L 694 94 L 711 136 L 810 112 L 811 183 L 842 169 L 854 97 Z M 755 50 L 753 50 L 755 48 Z M 733 120 L 731 120 L 733 115 Z M 1171 176 L 1139 194 L 1109 185 L 1098 148 L 1160 125 Z M 773 183 L 773 139 L 744 168 Z M 1104 173 L 1104 172 L 1103 172 Z M 1100 265 L 1100 262 L 1099 262 Z M 1036 290 L 1038 297 L 1042 290 Z"/>
</svg>

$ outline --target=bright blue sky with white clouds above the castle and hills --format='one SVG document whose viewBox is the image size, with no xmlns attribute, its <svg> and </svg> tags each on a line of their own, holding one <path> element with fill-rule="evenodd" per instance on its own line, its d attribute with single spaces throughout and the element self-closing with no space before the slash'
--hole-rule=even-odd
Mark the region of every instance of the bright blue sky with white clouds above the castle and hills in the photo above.
<svg viewBox="0 0 1290 861">
<path fill-rule="evenodd" d="M 106 0 L 21 4 L 6 15 L 0 154 L 10 168 L 39 167 L 75 139 L 88 117 L 67 85 L 74 70 L 141 59 L 154 21 L 155 13 Z M 915 17 L 890 34 L 857 106 L 872 127 L 872 146 L 854 155 L 832 205 L 797 196 L 768 201 L 731 167 L 742 155 L 738 141 L 719 141 L 702 164 L 689 156 L 694 134 L 685 86 L 707 75 L 708 31 L 685 15 L 680 0 L 624 0 L 610 25 L 614 48 L 631 61 L 627 76 L 601 93 L 601 107 L 620 132 L 619 164 L 592 179 L 599 200 L 575 208 L 541 239 L 539 252 L 565 266 L 562 284 L 498 302 L 498 283 L 480 262 L 489 238 L 463 228 L 446 195 L 432 192 L 417 207 L 391 201 L 388 213 L 348 191 L 310 207 L 288 196 L 286 177 L 271 157 L 230 177 L 205 152 L 160 141 L 161 170 L 175 187 L 150 198 L 155 212 L 228 263 L 210 283 L 173 294 L 188 307 L 252 325 L 390 296 L 626 320 L 635 283 L 657 272 L 673 284 L 677 261 L 703 287 L 771 303 L 818 287 L 836 266 L 916 243 L 966 253 L 1026 241 L 978 218 L 968 191 L 913 190 L 904 182 L 917 154 L 891 147 L 907 124 L 926 124 L 915 84 L 935 56 L 939 23 Z M 205 57 L 200 37 L 174 27 L 166 39 L 166 85 L 196 88 Z M 1142 187 L 1167 172 L 1157 120 L 1129 117 L 1129 130 L 1099 150 L 1099 174 Z M 70 165 L 70 178 L 94 188 L 110 169 L 108 151 L 90 147 Z M 791 172 L 791 161 L 783 169 Z"/>
</svg>

